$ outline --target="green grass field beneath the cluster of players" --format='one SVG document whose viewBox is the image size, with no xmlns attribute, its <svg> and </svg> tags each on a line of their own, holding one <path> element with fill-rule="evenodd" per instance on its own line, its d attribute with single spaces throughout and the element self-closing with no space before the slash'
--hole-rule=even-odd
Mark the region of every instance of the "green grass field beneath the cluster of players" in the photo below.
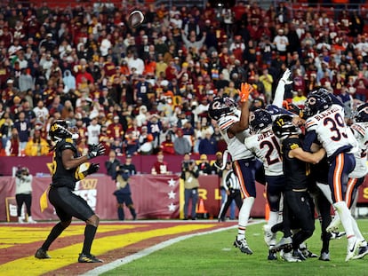
<svg viewBox="0 0 368 276">
<path fill-rule="evenodd" d="M 263 241 L 262 225 L 247 228 L 247 241 L 253 250 L 252 256 L 242 254 L 233 247 L 236 228 L 220 233 L 210 233 L 180 241 L 170 247 L 124 264 L 103 275 L 321 275 L 362 276 L 368 275 L 368 256 L 364 259 L 345 262 L 347 240 L 332 240 L 330 262 L 309 258 L 301 263 L 287 263 L 278 257 L 268 261 L 268 249 Z M 368 219 L 358 219 L 364 237 L 368 239 Z M 308 248 L 319 256 L 322 242 L 320 226 L 316 220 L 316 231 L 307 241 Z M 281 233 L 278 234 L 278 238 Z"/>
</svg>

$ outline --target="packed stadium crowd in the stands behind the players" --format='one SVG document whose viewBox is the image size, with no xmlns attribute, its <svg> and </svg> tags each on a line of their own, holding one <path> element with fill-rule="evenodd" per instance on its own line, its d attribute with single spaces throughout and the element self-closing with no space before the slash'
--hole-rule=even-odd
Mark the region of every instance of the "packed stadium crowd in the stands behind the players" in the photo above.
<svg viewBox="0 0 368 276">
<path fill-rule="evenodd" d="M 184 154 L 181 137 L 194 154 L 223 152 L 209 103 L 237 100 L 246 82 L 252 105 L 264 106 L 285 68 L 285 99 L 297 106 L 318 86 L 347 110 L 368 96 L 361 10 L 142 4 L 145 22 L 130 29 L 125 7 L 29 5 L 0 4 L 3 156 L 48 154 L 47 133 L 60 118 L 79 129 L 84 154 L 99 141 L 107 154 Z"/>
</svg>

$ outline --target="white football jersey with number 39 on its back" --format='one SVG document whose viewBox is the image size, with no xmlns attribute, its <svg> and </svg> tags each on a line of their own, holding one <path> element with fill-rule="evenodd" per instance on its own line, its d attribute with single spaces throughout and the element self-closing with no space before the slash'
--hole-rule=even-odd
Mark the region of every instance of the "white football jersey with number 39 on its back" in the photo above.
<svg viewBox="0 0 368 276">
<path fill-rule="evenodd" d="M 321 113 L 309 117 L 305 123 L 307 131 L 315 130 L 318 141 L 324 147 L 327 157 L 341 147 L 354 146 L 348 138 L 348 127 L 344 121 L 342 106 L 332 105 Z"/>
</svg>

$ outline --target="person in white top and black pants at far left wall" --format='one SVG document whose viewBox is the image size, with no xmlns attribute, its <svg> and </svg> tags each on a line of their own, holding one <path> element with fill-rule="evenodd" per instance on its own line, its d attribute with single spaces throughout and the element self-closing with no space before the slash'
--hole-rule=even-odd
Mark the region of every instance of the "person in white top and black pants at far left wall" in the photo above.
<svg viewBox="0 0 368 276">
<path fill-rule="evenodd" d="M 36 224 L 31 215 L 31 204 L 32 204 L 32 175 L 29 174 L 29 170 L 23 167 L 15 173 L 15 200 L 17 201 L 17 215 L 18 222 L 23 223 L 21 218 L 21 208 L 23 203 L 26 204 L 28 223 Z"/>
</svg>

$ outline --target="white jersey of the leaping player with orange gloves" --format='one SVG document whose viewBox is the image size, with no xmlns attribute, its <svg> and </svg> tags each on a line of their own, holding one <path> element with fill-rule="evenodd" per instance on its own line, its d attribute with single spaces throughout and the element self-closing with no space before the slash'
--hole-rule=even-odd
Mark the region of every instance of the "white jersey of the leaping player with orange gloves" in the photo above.
<svg viewBox="0 0 368 276">
<path fill-rule="evenodd" d="M 217 122 L 221 136 L 228 144 L 228 152 L 231 154 L 233 161 L 254 157 L 252 152 L 244 146 L 244 138 L 250 135 L 249 130 L 244 130 L 241 133 L 237 133 L 233 138 L 228 138 L 228 128 L 235 122 L 239 122 L 239 118 L 240 116 L 236 115 L 225 115 L 221 116 Z"/>
</svg>

